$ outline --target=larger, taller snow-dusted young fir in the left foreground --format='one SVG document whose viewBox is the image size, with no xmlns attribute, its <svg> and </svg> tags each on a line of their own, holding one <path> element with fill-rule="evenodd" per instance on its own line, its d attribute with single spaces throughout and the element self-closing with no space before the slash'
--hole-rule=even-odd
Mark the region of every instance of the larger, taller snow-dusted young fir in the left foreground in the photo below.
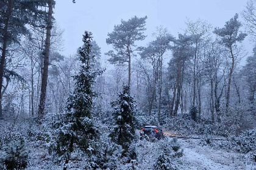
<svg viewBox="0 0 256 170">
<path fill-rule="evenodd" d="M 82 64 L 78 75 L 74 76 L 76 87 L 73 95 L 68 98 L 66 114 L 60 121 L 55 150 L 65 159 L 65 165 L 75 149 L 85 153 L 91 152 L 94 141 L 98 140 L 98 130 L 91 119 L 93 97 L 96 95 L 92 86 L 97 75 L 101 75 L 102 71 L 92 69 L 91 62 L 94 60 L 94 55 L 91 52 L 91 35 L 90 32 L 85 32 L 84 46 L 79 47 L 79 59 Z"/>
</svg>

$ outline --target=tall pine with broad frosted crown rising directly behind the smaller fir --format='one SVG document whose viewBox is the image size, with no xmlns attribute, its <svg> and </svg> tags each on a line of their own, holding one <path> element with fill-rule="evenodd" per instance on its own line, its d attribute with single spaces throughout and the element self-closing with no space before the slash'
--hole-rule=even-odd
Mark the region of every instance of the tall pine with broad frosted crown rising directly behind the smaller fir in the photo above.
<svg viewBox="0 0 256 170">
<path fill-rule="evenodd" d="M 135 45 L 135 41 L 142 41 L 146 38 L 144 35 L 145 24 L 147 16 L 143 18 L 138 18 L 134 16 L 128 21 L 121 20 L 120 25 L 115 25 L 112 33 L 108 33 L 108 38 L 106 39 L 107 44 L 111 44 L 115 49 L 105 53 L 110 56 L 110 63 L 128 63 L 128 85 L 130 86 L 130 75 L 131 75 L 131 57 L 133 56 L 133 51 L 140 50 Z M 136 49 L 135 49 L 136 48 Z"/>
</svg>

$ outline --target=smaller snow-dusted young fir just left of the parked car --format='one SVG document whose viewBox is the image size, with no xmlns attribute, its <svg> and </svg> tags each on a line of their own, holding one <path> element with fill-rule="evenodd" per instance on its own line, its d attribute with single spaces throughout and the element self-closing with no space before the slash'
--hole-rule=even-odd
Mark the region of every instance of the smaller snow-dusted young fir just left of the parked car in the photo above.
<svg viewBox="0 0 256 170">
<path fill-rule="evenodd" d="M 135 101 L 130 96 L 129 91 L 130 86 L 124 85 L 123 91 L 118 94 L 118 100 L 112 103 L 115 128 L 110 137 L 112 141 L 122 146 L 124 154 L 126 154 L 130 143 L 135 138 Z"/>
</svg>

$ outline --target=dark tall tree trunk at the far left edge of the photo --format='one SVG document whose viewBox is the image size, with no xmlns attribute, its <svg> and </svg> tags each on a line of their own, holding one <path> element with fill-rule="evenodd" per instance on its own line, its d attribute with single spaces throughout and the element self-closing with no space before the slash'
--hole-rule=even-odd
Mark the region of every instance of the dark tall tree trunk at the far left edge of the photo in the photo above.
<svg viewBox="0 0 256 170">
<path fill-rule="evenodd" d="M 10 16 L 12 15 L 12 0 L 8 0 L 8 9 L 7 15 L 4 22 L 4 36 L 2 42 L 2 56 L 1 56 L 1 63 L 0 63 L 0 118 L 2 118 L 2 79 L 4 76 L 4 64 L 5 64 L 5 56 L 6 56 L 6 49 L 7 49 L 7 41 L 8 41 L 8 27 Z"/>
</svg>

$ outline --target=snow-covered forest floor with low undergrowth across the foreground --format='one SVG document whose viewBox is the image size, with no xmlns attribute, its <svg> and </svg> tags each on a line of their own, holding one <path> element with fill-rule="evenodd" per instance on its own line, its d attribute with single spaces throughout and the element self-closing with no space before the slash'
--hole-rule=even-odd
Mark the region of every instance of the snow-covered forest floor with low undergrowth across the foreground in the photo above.
<svg viewBox="0 0 256 170">
<path fill-rule="evenodd" d="M 10 123 L 11 121 L 0 121 L 2 131 L 0 131 L 0 141 L 9 141 L 12 138 L 26 137 L 26 151 L 29 154 L 29 164 L 26 170 L 61 170 L 63 169 L 63 163 L 56 165 L 52 161 L 48 153 L 48 131 L 43 131 L 33 127 L 29 120 L 18 121 L 19 123 Z M 32 135 L 28 135 L 32 133 Z M 138 134 L 138 131 L 137 131 Z M 177 135 L 179 133 L 171 133 L 169 135 Z M 249 135 L 254 140 L 255 135 Z M 139 137 L 139 136 L 138 136 Z M 137 152 L 137 163 L 124 163 L 122 160 L 118 160 L 115 169 L 154 169 L 155 164 L 160 154 L 165 154 L 171 159 L 171 166 L 173 169 L 199 169 L 199 170 L 212 170 L 212 169 L 245 169 L 256 170 L 256 163 L 252 158 L 252 154 L 255 154 L 255 143 L 252 144 L 252 151 L 247 154 L 242 152 L 235 152 L 235 149 L 227 148 L 226 138 L 220 136 L 205 136 L 205 135 L 185 135 L 183 137 L 191 138 L 178 138 L 177 142 L 174 142 L 174 138 L 166 135 L 164 140 L 149 141 L 146 139 L 133 141 L 132 146 L 135 146 Z M 9 139 L 10 138 L 10 139 Z M 208 138 L 211 140 L 207 141 Z M 215 140 L 218 139 L 218 140 Z M 220 139 L 220 140 L 219 140 Z M 247 141 L 247 138 L 241 138 L 243 141 Z M 249 143 L 249 142 L 247 142 Z M 7 143 L 8 144 L 8 143 Z M 177 152 L 172 151 L 173 146 L 179 146 Z M 234 146 L 230 144 L 229 146 Z M 248 146 L 248 144 L 246 145 Z M 4 147 L 0 148 L 0 160 L 5 157 Z M 182 156 L 177 156 L 178 152 L 183 152 Z M 85 169 L 83 165 L 85 163 L 75 163 L 71 169 Z M 76 168 L 73 168 L 76 167 Z M 1 168 L 0 168 L 1 169 Z"/>
</svg>

